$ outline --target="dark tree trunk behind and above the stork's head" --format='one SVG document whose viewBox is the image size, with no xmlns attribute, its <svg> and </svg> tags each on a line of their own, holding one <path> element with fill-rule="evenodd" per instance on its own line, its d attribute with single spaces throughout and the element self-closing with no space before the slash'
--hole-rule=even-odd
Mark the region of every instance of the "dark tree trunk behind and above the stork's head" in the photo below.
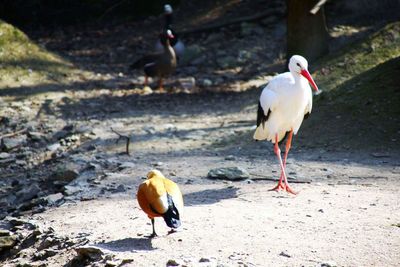
<svg viewBox="0 0 400 267">
<path fill-rule="evenodd" d="M 328 30 L 324 7 L 313 15 L 318 0 L 287 0 L 287 58 L 302 55 L 315 60 L 328 53 Z"/>
</svg>

